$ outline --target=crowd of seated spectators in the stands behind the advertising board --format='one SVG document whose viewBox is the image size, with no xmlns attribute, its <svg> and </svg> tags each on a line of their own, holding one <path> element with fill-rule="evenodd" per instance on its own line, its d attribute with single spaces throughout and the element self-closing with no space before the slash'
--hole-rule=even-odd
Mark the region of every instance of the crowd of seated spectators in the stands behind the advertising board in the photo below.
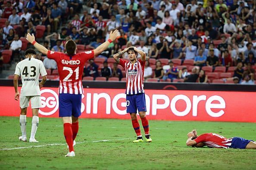
<svg viewBox="0 0 256 170">
<path fill-rule="evenodd" d="M 95 49 L 119 29 L 100 60 L 84 66 L 84 79 L 125 80 L 112 55 L 136 46 L 147 55 L 145 81 L 254 84 L 256 0 L 0 0 L 0 6 L 0 48 L 12 50 L 10 64 L 24 58 L 20 37 L 37 35 L 38 25 L 45 26 L 44 46 L 59 52 L 68 39 L 79 44 L 77 52 Z M 55 61 L 38 59 L 56 70 Z"/>
</svg>

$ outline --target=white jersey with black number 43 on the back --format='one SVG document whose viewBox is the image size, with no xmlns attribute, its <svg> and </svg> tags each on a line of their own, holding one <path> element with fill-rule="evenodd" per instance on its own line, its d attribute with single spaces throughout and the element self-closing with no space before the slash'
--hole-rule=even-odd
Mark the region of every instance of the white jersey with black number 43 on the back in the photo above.
<svg viewBox="0 0 256 170">
<path fill-rule="evenodd" d="M 22 60 L 16 65 L 14 74 L 22 79 L 21 96 L 41 96 L 39 76 L 47 75 L 42 61 L 35 58 Z"/>
</svg>

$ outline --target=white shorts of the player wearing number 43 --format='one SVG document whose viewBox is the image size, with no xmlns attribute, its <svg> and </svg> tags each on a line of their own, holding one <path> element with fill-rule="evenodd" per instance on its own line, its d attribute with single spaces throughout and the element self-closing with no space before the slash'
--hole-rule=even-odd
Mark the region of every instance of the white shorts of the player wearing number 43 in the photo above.
<svg viewBox="0 0 256 170">
<path fill-rule="evenodd" d="M 41 96 L 20 96 L 19 105 L 20 108 L 24 109 L 29 106 L 29 100 L 31 100 L 31 108 L 36 109 L 42 106 Z"/>
</svg>

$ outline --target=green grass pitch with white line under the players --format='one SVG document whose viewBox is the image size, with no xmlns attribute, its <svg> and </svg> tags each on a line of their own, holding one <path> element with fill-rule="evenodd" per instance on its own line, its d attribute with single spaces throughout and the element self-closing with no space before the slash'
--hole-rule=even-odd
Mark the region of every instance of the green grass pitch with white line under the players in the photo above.
<svg viewBox="0 0 256 170">
<path fill-rule="evenodd" d="M 150 121 L 153 142 L 132 143 L 136 135 L 130 120 L 81 119 L 76 156 L 65 158 L 68 150 L 60 118 L 40 118 L 39 143 L 28 143 L 18 140 L 19 117 L 0 117 L 0 169 L 256 169 L 256 150 L 187 147 L 187 132 L 193 128 L 198 134 L 256 140 L 253 123 Z M 30 131 L 27 118 L 28 137 Z M 107 141 L 95 142 L 101 140 Z M 18 147 L 25 148 L 3 150 Z"/>
</svg>

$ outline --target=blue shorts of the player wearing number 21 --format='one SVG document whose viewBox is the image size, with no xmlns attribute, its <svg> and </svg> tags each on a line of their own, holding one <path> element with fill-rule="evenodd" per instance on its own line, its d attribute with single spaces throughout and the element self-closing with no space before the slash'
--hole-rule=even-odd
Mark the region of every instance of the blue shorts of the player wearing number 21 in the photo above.
<svg viewBox="0 0 256 170">
<path fill-rule="evenodd" d="M 81 94 L 59 94 L 59 117 L 79 117 L 81 115 Z"/>
</svg>

